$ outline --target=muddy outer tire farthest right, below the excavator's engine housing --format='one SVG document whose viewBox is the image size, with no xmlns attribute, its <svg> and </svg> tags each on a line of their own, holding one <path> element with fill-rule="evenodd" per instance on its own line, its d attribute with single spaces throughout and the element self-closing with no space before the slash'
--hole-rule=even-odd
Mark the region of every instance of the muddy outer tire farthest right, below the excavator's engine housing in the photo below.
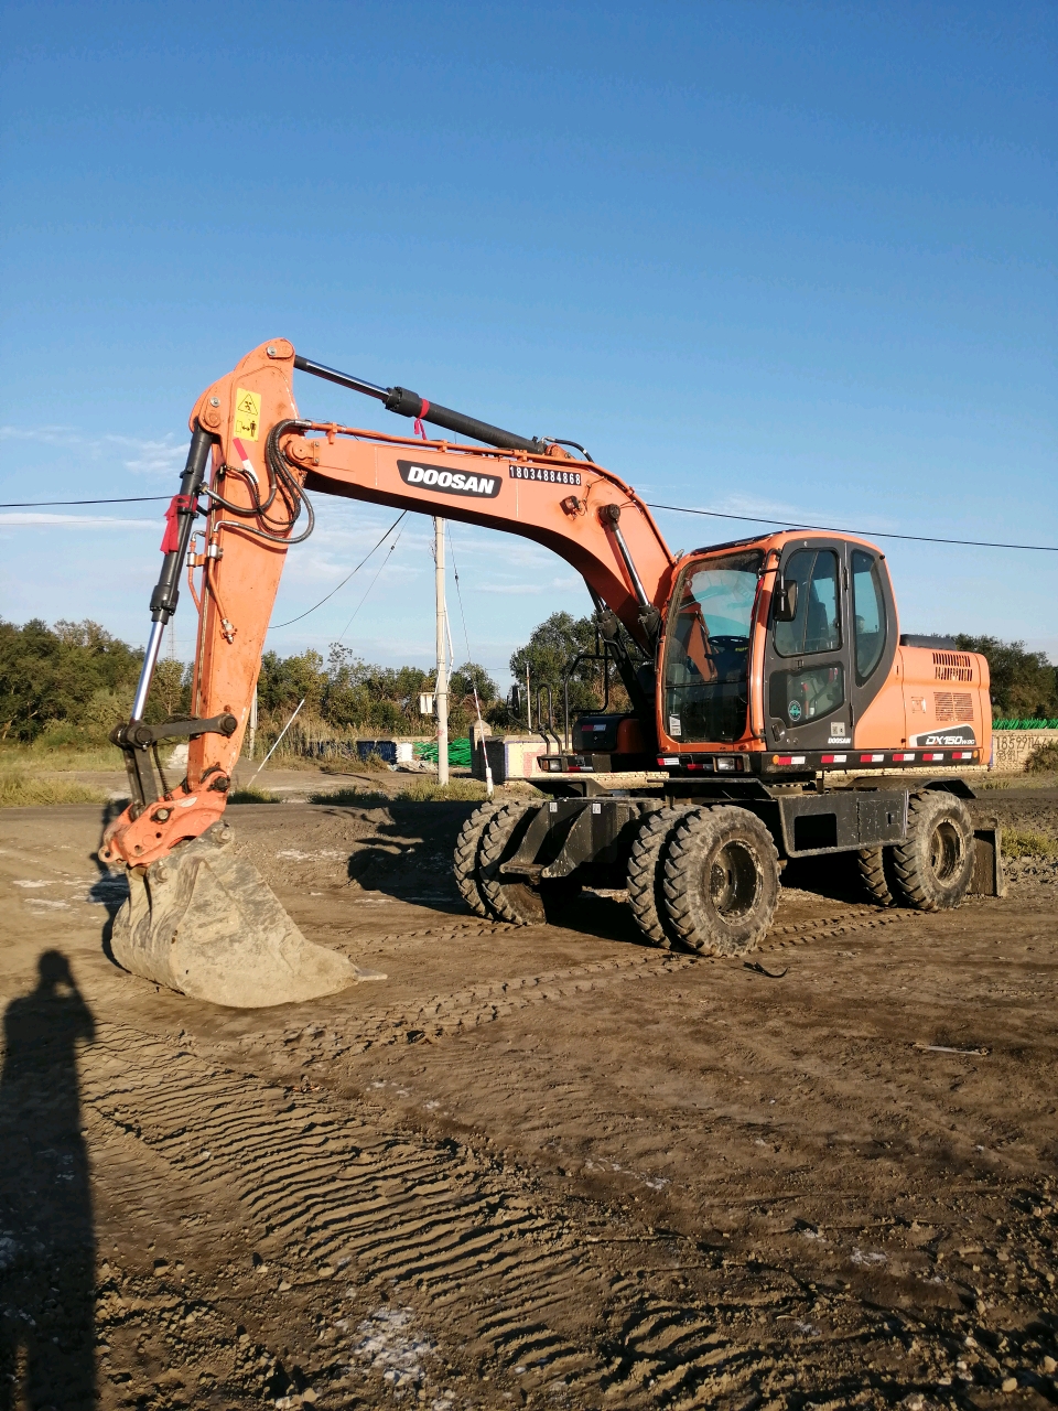
<svg viewBox="0 0 1058 1411">
<path fill-rule="evenodd" d="M 907 837 L 893 848 L 893 883 L 916 912 L 956 907 L 973 875 L 973 821 L 947 790 L 925 789 L 907 804 Z"/>
</svg>

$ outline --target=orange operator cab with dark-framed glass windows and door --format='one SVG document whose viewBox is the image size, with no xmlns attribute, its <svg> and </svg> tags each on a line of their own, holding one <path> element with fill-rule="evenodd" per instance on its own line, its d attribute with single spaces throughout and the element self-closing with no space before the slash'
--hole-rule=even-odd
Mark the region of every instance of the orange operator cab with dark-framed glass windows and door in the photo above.
<svg viewBox="0 0 1058 1411">
<path fill-rule="evenodd" d="M 748 773 L 777 765 L 767 751 L 804 751 L 796 763 L 817 768 L 811 752 L 852 746 L 896 646 L 896 602 L 872 545 L 782 533 L 697 550 L 669 605 L 664 766 Z M 724 753 L 742 758 L 721 765 Z"/>
</svg>

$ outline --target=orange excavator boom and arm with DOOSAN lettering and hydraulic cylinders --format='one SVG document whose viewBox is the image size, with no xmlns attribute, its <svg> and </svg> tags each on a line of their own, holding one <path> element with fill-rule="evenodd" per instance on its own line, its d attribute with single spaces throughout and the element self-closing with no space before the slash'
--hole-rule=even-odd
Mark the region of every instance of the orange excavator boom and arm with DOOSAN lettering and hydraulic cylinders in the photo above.
<svg viewBox="0 0 1058 1411">
<path fill-rule="evenodd" d="M 416 428 L 426 420 L 491 444 L 302 419 L 295 368 L 375 396 L 389 411 L 416 418 Z M 165 864 L 174 852 L 172 864 L 188 872 L 182 859 L 189 847 L 197 848 L 195 858 L 209 864 L 214 880 L 223 871 L 195 840 L 226 835 L 221 817 L 284 562 L 289 547 L 312 532 L 310 494 L 442 515 L 545 545 L 583 574 L 592 598 L 607 604 L 647 652 L 657 641 L 674 564 L 635 491 L 587 456 L 574 459 L 557 442 L 521 437 L 403 388 L 379 388 L 326 368 L 296 356 L 285 339 L 261 344 L 207 388 L 190 413 L 190 430 L 179 494 L 166 515 L 133 715 L 111 737 L 124 752 L 133 799 L 107 827 L 100 851 L 104 862 L 124 865 L 145 888 L 140 923 L 133 923 L 133 930 L 140 926 L 140 943 L 126 944 L 120 958 L 165 983 L 174 983 L 171 967 L 159 974 L 161 961 L 144 962 L 148 950 L 165 950 L 148 914 L 158 910 L 151 878 L 172 876 L 174 866 L 166 871 Z M 196 532 L 199 516 L 203 528 Z M 142 717 L 185 564 L 199 608 L 190 718 L 151 727 Z M 165 777 L 158 752 L 161 742 L 178 738 L 189 741 L 188 772 L 179 783 Z M 230 878 L 224 885 L 229 892 L 236 886 Z M 260 888 L 267 892 L 262 882 Z M 181 919 L 186 931 L 186 909 Z M 299 944 L 308 947 L 303 938 Z M 117 940 L 114 948 L 117 954 Z M 216 998 L 216 985 L 205 998 Z M 282 991 L 282 998 L 291 995 Z"/>
</svg>

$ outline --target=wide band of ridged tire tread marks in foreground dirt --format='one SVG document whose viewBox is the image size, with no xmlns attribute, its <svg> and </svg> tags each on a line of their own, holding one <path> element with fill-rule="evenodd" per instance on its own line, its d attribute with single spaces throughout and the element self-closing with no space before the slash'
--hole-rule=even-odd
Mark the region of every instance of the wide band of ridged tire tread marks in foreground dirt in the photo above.
<svg viewBox="0 0 1058 1411">
<path fill-rule="evenodd" d="M 468 1149 L 382 1132 L 130 1027 L 100 1026 L 97 1053 L 85 1065 L 86 1113 L 142 1143 L 203 1206 L 236 1202 L 244 1239 L 262 1232 L 282 1247 L 279 1287 L 336 1322 L 332 1276 L 355 1268 L 360 1285 L 399 1287 L 434 1335 L 443 1329 L 442 1356 L 466 1349 L 494 1366 L 498 1387 L 611 1393 L 619 1405 L 715 1404 L 773 1364 L 759 1343 L 732 1338 L 718 1307 L 647 1298 L 642 1274 L 614 1260 L 624 1245 L 622 1261 L 642 1270 L 636 1256 L 657 1240 L 614 1242 L 590 1206 L 570 1219 Z M 691 1240 L 667 1236 L 662 1247 L 666 1267 L 721 1273 Z M 732 1274 L 722 1304 L 743 1297 Z M 765 1284 L 758 1277 L 758 1301 L 789 1301 L 787 1277 Z M 353 1348 L 334 1352 L 332 1369 L 354 1359 Z"/>
</svg>

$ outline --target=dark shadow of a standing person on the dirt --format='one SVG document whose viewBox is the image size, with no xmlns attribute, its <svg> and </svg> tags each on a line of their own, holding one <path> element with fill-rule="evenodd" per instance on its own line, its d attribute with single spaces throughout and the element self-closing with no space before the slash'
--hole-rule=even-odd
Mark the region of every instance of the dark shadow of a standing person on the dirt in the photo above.
<svg viewBox="0 0 1058 1411">
<path fill-rule="evenodd" d="M 61 951 L 4 1015 L 0 1411 L 96 1405 L 92 1187 L 78 1051 L 95 1020 Z"/>
</svg>

